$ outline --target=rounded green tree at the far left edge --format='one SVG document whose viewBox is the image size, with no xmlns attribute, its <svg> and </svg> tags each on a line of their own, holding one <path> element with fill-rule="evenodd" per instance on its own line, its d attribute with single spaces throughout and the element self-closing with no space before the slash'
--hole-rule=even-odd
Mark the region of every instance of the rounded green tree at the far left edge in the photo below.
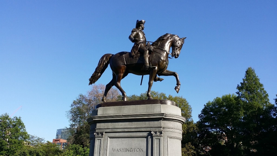
<svg viewBox="0 0 277 156">
<path fill-rule="evenodd" d="M 10 118 L 7 113 L 0 116 L 0 155 L 15 155 L 28 138 L 20 117 Z"/>
</svg>

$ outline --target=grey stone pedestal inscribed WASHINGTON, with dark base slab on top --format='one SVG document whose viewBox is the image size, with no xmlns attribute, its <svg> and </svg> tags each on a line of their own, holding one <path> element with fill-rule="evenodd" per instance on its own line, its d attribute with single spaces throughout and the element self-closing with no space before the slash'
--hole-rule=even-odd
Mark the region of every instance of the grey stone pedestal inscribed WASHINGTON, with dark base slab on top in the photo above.
<svg viewBox="0 0 277 156">
<path fill-rule="evenodd" d="M 185 118 L 176 103 L 103 103 L 93 110 L 89 156 L 181 156 Z"/>
</svg>

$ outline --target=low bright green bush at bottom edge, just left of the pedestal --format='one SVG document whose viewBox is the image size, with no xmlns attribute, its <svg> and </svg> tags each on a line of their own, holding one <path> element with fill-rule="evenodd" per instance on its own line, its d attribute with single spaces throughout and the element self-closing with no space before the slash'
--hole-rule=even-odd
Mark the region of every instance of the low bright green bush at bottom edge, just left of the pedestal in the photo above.
<svg viewBox="0 0 277 156">
<path fill-rule="evenodd" d="M 89 148 L 77 144 L 68 144 L 64 149 L 63 156 L 88 156 Z"/>
</svg>

